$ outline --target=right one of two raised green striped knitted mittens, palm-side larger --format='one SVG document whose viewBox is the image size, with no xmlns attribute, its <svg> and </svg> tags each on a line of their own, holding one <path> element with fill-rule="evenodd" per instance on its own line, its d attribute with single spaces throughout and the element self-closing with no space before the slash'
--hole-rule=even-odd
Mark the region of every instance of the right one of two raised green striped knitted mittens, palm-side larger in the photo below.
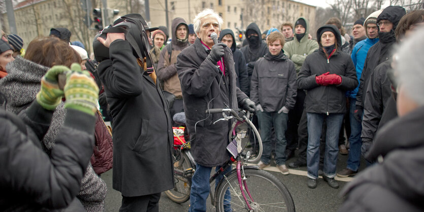
<svg viewBox="0 0 424 212">
<path fill-rule="evenodd" d="M 90 77 L 89 72 L 83 72 L 77 63 L 71 65 L 73 73 L 67 77 L 63 89 L 66 102 L 65 108 L 72 108 L 94 116 L 99 98 L 99 88 Z"/>
</svg>

